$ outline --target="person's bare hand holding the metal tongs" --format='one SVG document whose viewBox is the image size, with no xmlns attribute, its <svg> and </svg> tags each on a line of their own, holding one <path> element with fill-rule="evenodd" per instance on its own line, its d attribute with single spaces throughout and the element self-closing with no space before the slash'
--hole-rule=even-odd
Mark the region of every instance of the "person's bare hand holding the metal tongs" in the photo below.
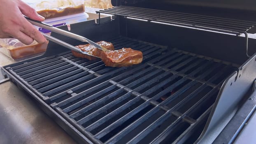
<svg viewBox="0 0 256 144">
<path fill-rule="evenodd" d="M 21 0 L 0 0 L 0 38 L 14 37 L 24 44 L 47 42 L 45 37 L 24 16 L 37 21 L 44 17 Z"/>
</svg>

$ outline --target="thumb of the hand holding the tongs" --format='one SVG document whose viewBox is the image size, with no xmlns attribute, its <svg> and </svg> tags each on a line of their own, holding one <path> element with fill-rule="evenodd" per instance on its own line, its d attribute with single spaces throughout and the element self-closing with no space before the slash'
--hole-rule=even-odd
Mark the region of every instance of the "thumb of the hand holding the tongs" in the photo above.
<svg viewBox="0 0 256 144">
<path fill-rule="evenodd" d="M 37 14 L 35 9 L 27 5 L 25 2 L 22 2 L 20 0 L 19 2 L 19 9 L 21 10 L 21 13 L 25 16 L 28 16 L 30 19 L 34 19 L 37 21 L 44 21 L 44 17 Z"/>
</svg>

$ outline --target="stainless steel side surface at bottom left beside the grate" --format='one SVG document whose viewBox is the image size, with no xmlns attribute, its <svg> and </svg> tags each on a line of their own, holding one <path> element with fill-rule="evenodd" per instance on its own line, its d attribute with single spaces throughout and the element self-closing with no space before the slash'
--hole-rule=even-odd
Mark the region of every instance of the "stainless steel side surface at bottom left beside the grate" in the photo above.
<svg viewBox="0 0 256 144">
<path fill-rule="evenodd" d="M 76 142 L 12 82 L 0 84 L 0 144 Z"/>
</svg>

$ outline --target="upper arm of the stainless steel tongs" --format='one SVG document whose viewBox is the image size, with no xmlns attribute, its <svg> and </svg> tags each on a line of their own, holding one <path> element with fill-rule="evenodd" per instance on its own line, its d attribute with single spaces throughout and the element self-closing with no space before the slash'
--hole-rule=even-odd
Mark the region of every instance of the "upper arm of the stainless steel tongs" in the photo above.
<svg viewBox="0 0 256 144">
<path fill-rule="evenodd" d="M 47 30 L 51 30 L 51 31 L 53 31 L 55 33 L 59 33 L 61 35 L 65 35 L 67 37 L 71 37 L 73 39 L 80 40 L 81 42 L 88 42 L 89 44 L 95 46 L 96 48 L 98 48 L 98 49 L 100 49 L 102 51 L 109 51 L 108 49 L 105 49 L 103 46 L 100 46 L 99 44 L 96 44 L 95 42 L 91 41 L 90 39 L 87 39 L 86 37 L 82 37 L 80 35 L 76 35 L 74 33 L 70 33 L 70 32 L 67 32 L 65 30 L 61 30 L 59 28 L 55 28 L 53 26 L 49 26 L 48 24 L 45 24 L 45 23 L 40 23 L 40 22 L 37 22 L 37 21 L 33 21 L 33 20 L 29 19 L 29 18 L 26 18 L 26 19 L 28 19 L 28 21 L 30 23 L 32 23 L 33 25 L 35 25 L 35 26 L 39 26 L 41 28 L 45 28 Z M 67 47 L 67 48 L 70 48 L 70 47 Z"/>
</svg>

